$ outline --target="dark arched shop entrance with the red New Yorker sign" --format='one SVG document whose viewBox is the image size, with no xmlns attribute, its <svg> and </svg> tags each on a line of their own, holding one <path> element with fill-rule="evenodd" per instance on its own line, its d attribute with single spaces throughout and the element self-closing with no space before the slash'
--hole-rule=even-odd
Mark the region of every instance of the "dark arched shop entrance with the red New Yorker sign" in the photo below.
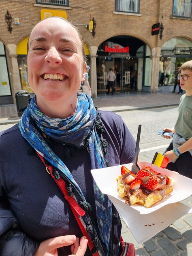
<svg viewBox="0 0 192 256">
<path fill-rule="evenodd" d="M 107 73 L 112 68 L 116 75 L 114 90 L 116 93 L 141 91 L 143 81 L 143 59 L 145 44 L 129 36 L 110 38 L 98 47 L 97 92 L 107 92 Z"/>
</svg>

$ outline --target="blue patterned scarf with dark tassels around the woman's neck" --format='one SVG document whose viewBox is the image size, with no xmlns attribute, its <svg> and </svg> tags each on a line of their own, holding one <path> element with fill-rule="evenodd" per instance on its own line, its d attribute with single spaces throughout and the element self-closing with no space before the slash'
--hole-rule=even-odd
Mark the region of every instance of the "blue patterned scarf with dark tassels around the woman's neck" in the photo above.
<svg viewBox="0 0 192 256">
<path fill-rule="evenodd" d="M 50 118 L 44 115 L 36 105 L 36 97 L 32 98 L 28 108 L 21 117 L 19 129 L 28 143 L 51 165 L 60 170 L 64 177 L 66 177 L 66 180 L 70 180 L 73 188 L 78 191 L 83 201 L 85 201 L 83 193 L 70 171 L 64 162 L 53 153 L 52 149 L 45 141 L 45 138 L 42 136 L 43 132 L 51 139 L 62 141 L 68 145 L 74 145 L 79 149 L 87 145 L 90 154 L 91 168 L 98 169 L 106 167 L 100 139 L 95 128 L 97 111 L 93 105 L 92 98 L 83 93 L 78 93 L 77 98 L 78 103 L 75 114 L 65 119 Z M 36 128 L 36 126 L 38 128 Z M 104 244 L 105 253 L 103 249 L 100 248 L 98 242 L 96 242 L 95 245 L 97 245 L 96 247 L 101 255 L 107 256 L 110 251 L 112 203 L 106 195 L 100 192 L 95 182 L 94 194 L 100 240 L 101 243 Z M 90 224 L 90 218 L 87 213 L 83 216 L 83 222 L 85 225 Z M 89 235 L 92 240 L 94 240 L 95 235 Z"/>
</svg>

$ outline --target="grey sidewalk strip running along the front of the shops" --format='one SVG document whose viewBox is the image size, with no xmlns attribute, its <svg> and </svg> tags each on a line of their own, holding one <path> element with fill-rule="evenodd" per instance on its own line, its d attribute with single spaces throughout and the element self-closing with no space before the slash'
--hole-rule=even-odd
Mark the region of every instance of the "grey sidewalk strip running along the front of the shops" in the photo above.
<svg viewBox="0 0 192 256">
<path fill-rule="evenodd" d="M 177 93 L 149 94 L 145 92 L 100 94 L 93 99 L 94 105 L 103 110 L 129 111 L 179 104 L 181 95 Z M 0 105 L 0 124 L 19 122 L 16 105 Z"/>
</svg>

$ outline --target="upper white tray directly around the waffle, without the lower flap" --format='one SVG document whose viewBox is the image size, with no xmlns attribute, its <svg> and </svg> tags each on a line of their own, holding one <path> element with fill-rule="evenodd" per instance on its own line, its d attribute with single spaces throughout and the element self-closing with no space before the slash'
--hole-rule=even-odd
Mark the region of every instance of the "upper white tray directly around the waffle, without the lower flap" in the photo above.
<svg viewBox="0 0 192 256">
<path fill-rule="evenodd" d="M 149 162 L 139 162 L 138 164 L 141 169 L 151 165 Z M 129 170 L 131 170 L 132 163 L 123 165 L 126 166 Z M 116 178 L 121 174 L 121 166 L 122 165 L 107 167 L 103 169 L 95 169 L 92 170 L 91 172 L 100 190 L 104 194 L 107 194 L 112 202 L 114 200 L 113 198 L 118 199 L 122 203 L 122 207 L 124 207 L 124 202 L 126 200 L 122 199 L 118 195 L 116 181 Z M 139 211 L 140 214 L 148 214 L 160 209 L 165 205 L 182 201 L 183 199 L 187 198 L 192 194 L 192 179 L 180 175 L 177 172 L 159 168 L 154 164 L 152 164 L 152 169 L 154 171 L 157 171 L 158 173 L 163 173 L 171 177 L 171 185 L 173 186 L 173 192 L 168 197 L 162 199 L 161 201 L 159 201 L 150 208 L 143 207 L 142 205 L 126 205 L 127 209 L 129 207 L 132 207 L 134 210 Z"/>
</svg>

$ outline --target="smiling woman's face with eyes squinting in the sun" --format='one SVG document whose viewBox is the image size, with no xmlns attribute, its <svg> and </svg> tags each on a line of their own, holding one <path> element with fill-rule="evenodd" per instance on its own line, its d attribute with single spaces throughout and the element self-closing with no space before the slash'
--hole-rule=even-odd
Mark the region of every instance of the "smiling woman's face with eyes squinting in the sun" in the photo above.
<svg viewBox="0 0 192 256">
<path fill-rule="evenodd" d="M 45 19 L 32 30 L 28 47 L 28 81 L 37 101 L 77 97 L 85 76 L 77 31 L 60 18 Z"/>
</svg>

